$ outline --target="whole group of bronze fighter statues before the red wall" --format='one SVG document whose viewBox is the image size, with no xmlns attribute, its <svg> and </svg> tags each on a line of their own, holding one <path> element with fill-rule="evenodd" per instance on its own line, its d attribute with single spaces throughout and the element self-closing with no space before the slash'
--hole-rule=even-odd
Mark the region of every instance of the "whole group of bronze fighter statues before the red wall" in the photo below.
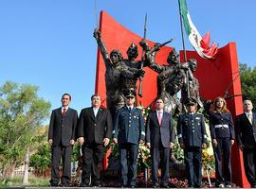
<svg viewBox="0 0 256 189">
<path fill-rule="evenodd" d="M 143 39 L 139 42 L 143 51 L 141 60 L 137 60 L 138 47 L 136 43 L 131 43 L 126 51 L 127 59 L 124 59 L 118 49 L 112 50 L 109 54 L 99 29 L 94 30 L 94 38 L 105 63 L 106 102 L 113 117 L 116 110 L 125 104 L 124 93 L 127 90 L 137 91 L 137 79 L 140 79 L 141 82 L 141 78 L 145 74 L 143 70 L 145 66 L 158 74 L 157 97 L 163 99 L 166 112 L 172 114 L 181 112 L 182 104 L 188 97 L 196 99 L 199 107 L 203 106 L 199 95 L 199 83 L 193 76 L 197 68 L 196 60 L 191 59 L 181 63 L 179 54 L 173 49 L 169 53 L 167 64 L 157 63 L 155 62 L 156 53 L 166 43 L 155 43 L 153 47 L 150 47 Z M 177 95 L 179 92 L 181 100 Z"/>
</svg>

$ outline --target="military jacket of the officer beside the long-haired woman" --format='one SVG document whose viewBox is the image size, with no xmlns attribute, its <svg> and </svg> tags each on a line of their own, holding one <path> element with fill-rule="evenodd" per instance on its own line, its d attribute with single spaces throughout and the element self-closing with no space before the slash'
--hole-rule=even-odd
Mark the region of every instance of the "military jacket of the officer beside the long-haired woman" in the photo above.
<svg viewBox="0 0 256 189">
<path fill-rule="evenodd" d="M 204 116 L 199 113 L 184 113 L 179 115 L 177 122 L 179 144 L 186 146 L 202 146 L 207 143 Z"/>
</svg>

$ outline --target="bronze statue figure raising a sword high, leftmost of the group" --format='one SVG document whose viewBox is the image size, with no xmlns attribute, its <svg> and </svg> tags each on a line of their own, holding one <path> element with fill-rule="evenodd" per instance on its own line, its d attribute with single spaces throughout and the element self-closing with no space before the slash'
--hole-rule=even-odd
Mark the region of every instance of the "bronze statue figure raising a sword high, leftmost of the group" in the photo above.
<svg viewBox="0 0 256 189">
<path fill-rule="evenodd" d="M 122 90 L 125 86 L 126 79 L 137 79 L 144 73 L 136 68 L 128 67 L 119 50 L 114 49 L 108 54 L 107 48 L 101 38 L 101 31 L 94 30 L 94 38 L 98 43 L 101 55 L 105 63 L 105 85 L 106 85 L 106 102 L 107 108 L 114 118 L 116 110 L 124 106 L 124 95 Z"/>
</svg>

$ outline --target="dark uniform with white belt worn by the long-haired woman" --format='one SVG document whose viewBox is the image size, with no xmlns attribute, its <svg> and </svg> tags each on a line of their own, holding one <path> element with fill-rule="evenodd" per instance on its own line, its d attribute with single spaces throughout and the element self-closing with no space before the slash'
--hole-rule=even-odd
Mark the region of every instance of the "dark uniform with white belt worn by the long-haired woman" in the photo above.
<svg viewBox="0 0 256 189">
<path fill-rule="evenodd" d="M 216 183 L 231 184 L 231 145 L 230 140 L 235 139 L 234 126 L 231 114 L 210 112 L 210 136 L 211 140 L 216 139 L 218 145 L 213 147 L 215 158 Z M 222 163 L 222 153 L 224 163 Z M 224 171 L 222 170 L 224 166 Z"/>
</svg>

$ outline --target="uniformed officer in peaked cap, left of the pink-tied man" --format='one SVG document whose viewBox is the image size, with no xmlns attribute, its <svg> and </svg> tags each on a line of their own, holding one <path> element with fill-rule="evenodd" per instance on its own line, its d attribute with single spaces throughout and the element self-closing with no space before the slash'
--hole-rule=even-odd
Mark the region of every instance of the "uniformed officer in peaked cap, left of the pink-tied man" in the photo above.
<svg viewBox="0 0 256 189">
<path fill-rule="evenodd" d="M 128 90 L 124 94 L 126 106 L 116 113 L 113 140 L 119 144 L 121 186 L 133 188 L 137 184 L 138 144 L 145 139 L 145 128 L 142 112 L 134 107 L 136 92 Z"/>
</svg>

